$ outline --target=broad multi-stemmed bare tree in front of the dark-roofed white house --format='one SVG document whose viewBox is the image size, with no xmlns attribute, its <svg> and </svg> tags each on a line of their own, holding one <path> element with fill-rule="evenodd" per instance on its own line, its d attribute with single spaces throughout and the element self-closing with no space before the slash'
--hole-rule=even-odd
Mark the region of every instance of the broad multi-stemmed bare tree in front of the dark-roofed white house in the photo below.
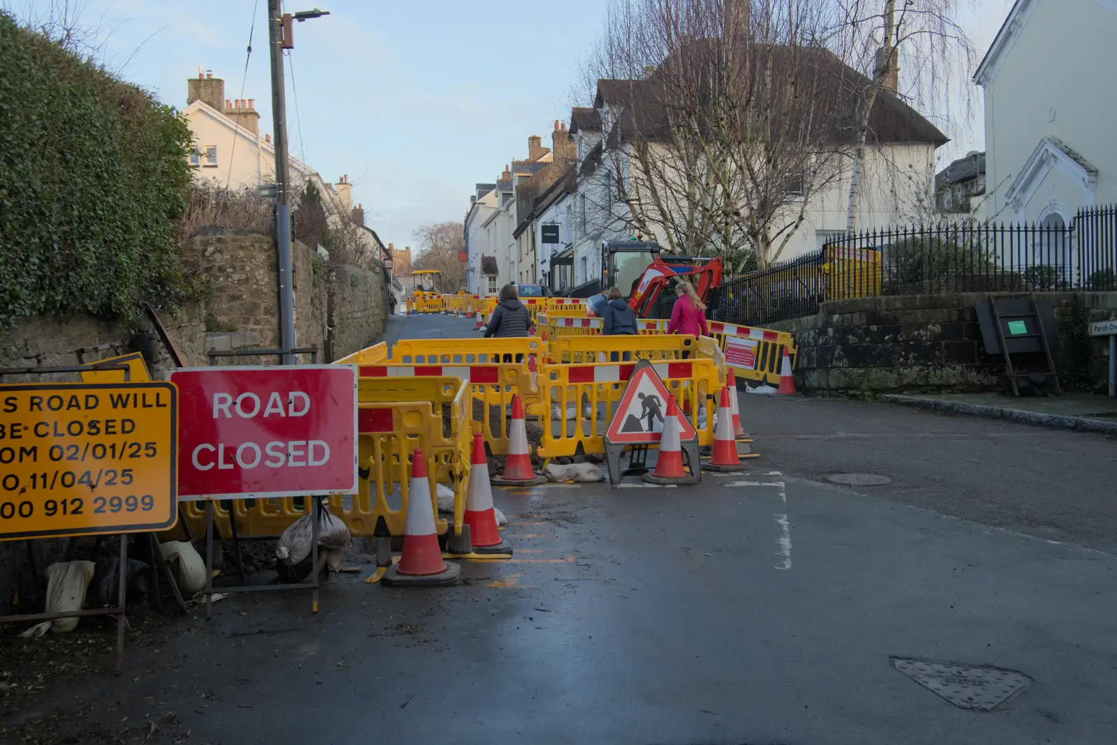
<svg viewBox="0 0 1117 745">
<path fill-rule="evenodd" d="M 634 223 L 658 226 L 675 251 L 729 259 L 731 269 L 780 258 L 850 145 L 839 126 L 846 68 L 820 45 L 818 4 L 614 7 L 598 69 L 628 77 L 601 81 L 599 103 Z"/>
</svg>

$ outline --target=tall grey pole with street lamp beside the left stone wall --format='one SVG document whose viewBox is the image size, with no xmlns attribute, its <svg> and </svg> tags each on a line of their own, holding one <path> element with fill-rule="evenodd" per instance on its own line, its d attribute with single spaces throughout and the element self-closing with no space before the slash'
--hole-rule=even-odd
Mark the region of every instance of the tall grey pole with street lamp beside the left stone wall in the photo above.
<svg viewBox="0 0 1117 745">
<path fill-rule="evenodd" d="M 276 151 L 276 263 L 279 289 L 279 347 L 288 350 L 284 365 L 294 365 L 289 354 L 295 339 L 295 277 L 290 242 L 290 167 L 287 162 L 287 104 L 284 93 L 283 50 L 294 49 L 292 20 L 305 21 L 328 16 L 325 10 L 304 10 L 292 16 L 280 12 L 279 0 L 268 0 L 268 41 L 271 49 L 271 112 Z"/>
</svg>

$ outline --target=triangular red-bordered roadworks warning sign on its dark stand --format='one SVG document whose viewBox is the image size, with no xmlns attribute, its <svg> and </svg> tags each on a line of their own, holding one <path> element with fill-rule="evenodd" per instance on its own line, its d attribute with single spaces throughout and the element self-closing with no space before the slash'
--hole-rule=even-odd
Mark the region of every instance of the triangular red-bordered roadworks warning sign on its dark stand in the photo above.
<svg viewBox="0 0 1117 745">
<path fill-rule="evenodd" d="M 651 362 L 639 360 L 605 429 L 605 461 L 611 484 L 619 484 L 630 473 L 647 471 L 648 446 L 659 445 L 662 438 L 670 396 Z M 681 413 L 678 422 L 682 452 L 687 454 L 691 470 L 698 473 L 698 433 Z M 621 471 L 621 454 L 627 447 L 632 448 L 630 468 Z"/>
</svg>

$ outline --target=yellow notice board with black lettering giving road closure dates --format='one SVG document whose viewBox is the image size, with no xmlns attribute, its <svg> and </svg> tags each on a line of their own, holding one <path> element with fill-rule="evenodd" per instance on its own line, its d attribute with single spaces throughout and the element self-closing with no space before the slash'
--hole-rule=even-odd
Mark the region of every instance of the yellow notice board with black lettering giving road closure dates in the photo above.
<svg viewBox="0 0 1117 745">
<path fill-rule="evenodd" d="M 174 525 L 171 383 L 0 385 L 0 541 Z"/>
</svg>

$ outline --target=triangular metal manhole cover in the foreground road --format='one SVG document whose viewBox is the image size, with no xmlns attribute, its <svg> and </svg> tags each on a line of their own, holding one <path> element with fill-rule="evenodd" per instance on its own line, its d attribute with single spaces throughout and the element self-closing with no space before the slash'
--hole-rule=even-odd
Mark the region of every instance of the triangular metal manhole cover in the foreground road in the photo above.
<svg viewBox="0 0 1117 745">
<path fill-rule="evenodd" d="M 999 667 L 890 657 L 892 667 L 958 708 L 991 712 L 1031 683 L 1023 673 Z"/>
</svg>

